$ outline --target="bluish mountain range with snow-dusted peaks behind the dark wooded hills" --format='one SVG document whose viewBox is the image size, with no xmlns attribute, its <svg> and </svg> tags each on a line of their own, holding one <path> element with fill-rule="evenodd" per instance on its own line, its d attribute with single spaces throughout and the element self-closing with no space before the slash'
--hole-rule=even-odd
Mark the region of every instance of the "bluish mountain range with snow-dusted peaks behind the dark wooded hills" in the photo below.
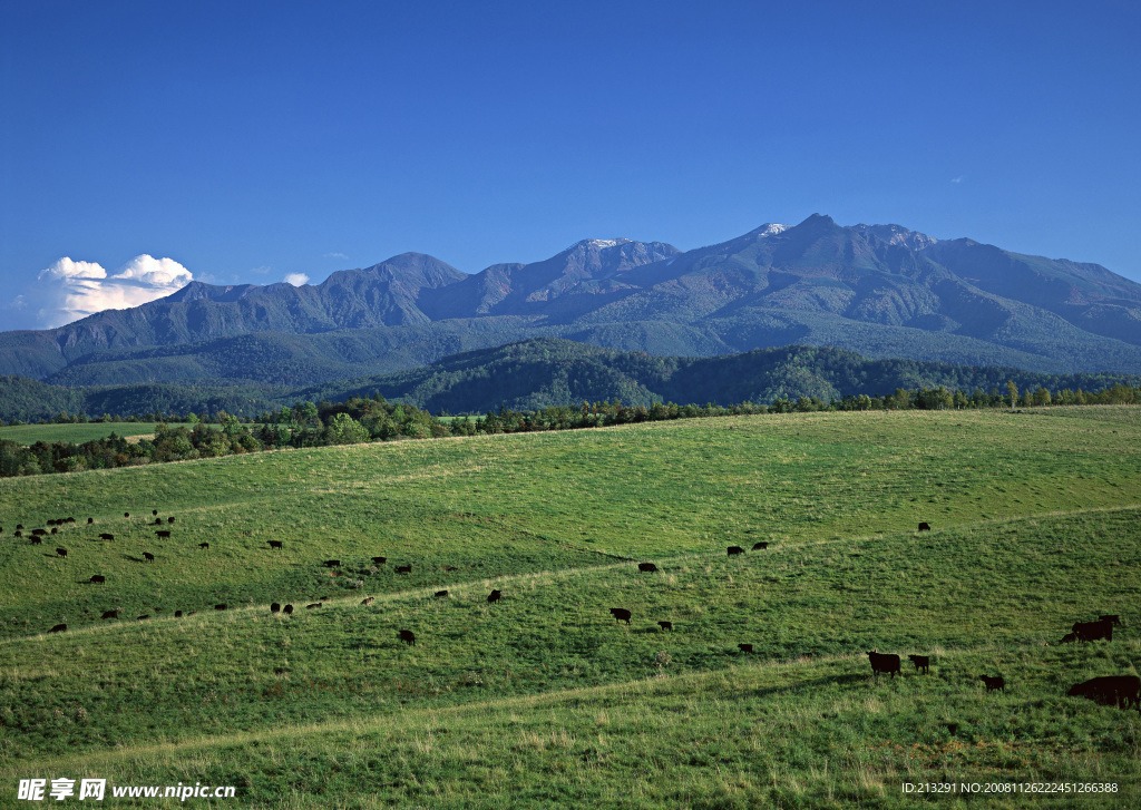
<svg viewBox="0 0 1141 810">
<path fill-rule="evenodd" d="M 192 282 L 43 331 L 0 374 L 64 386 L 311 386 L 553 337 L 712 357 L 791 343 L 1046 373 L 1141 373 L 1141 284 L 1099 265 L 814 214 L 690 251 L 584 240 L 462 273 L 422 253 L 321 284 Z"/>
</svg>

